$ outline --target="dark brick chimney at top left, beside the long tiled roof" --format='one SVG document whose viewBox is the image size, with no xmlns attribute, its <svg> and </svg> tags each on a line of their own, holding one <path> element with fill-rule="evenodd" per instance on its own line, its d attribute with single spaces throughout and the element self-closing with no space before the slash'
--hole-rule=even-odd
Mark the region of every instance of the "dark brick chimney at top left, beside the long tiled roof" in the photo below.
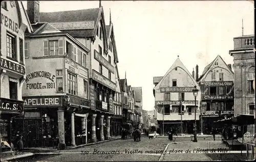
<svg viewBox="0 0 256 162">
<path fill-rule="evenodd" d="M 39 22 L 39 1 L 28 1 L 27 12 L 30 24 L 35 24 L 36 22 Z"/>
</svg>

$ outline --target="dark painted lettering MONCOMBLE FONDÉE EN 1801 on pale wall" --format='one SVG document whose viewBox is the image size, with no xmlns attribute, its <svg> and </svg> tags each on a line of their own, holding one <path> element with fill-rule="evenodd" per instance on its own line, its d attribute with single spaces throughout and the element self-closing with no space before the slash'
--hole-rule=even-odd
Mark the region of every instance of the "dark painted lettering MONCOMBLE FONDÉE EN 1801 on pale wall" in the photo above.
<svg viewBox="0 0 256 162">
<path fill-rule="evenodd" d="M 41 82 L 28 83 L 34 78 L 46 78 L 49 82 L 41 80 Z M 46 71 L 35 71 L 26 77 L 27 89 L 52 89 L 55 88 L 55 75 Z"/>
</svg>

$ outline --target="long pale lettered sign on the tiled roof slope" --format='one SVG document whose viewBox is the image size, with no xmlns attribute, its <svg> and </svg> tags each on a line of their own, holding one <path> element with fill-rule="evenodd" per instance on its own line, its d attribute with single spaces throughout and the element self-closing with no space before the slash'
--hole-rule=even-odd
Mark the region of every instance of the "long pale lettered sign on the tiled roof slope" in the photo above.
<svg viewBox="0 0 256 162">
<path fill-rule="evenodd" d="M 94 21 L 68 21 L 68 22 L 50 22 L 50 24 L 59 30 L 75 29 L 94 29 Z"/>
</svg>

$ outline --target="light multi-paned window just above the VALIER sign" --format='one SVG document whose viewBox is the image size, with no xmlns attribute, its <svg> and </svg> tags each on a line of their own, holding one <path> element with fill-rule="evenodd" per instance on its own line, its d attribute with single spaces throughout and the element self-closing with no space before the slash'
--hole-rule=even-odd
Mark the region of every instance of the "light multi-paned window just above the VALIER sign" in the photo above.
<svg viewBox="0 0 256 162">
<path fill-rule="evenodd" d="M 7 33 L 6 34 L 6 41 L 7 41 L 7 56 L 13 59 L 16 58 L 16 37 Z"/>
</svg>

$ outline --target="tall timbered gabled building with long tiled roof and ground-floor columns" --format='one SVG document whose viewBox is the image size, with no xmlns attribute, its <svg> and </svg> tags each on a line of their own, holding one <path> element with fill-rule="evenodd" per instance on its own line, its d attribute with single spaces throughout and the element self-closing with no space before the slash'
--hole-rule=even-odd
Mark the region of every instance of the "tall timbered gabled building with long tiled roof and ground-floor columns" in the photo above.
<svg viewBox="0 0 256 162">
<path fill-rule="evenodd" d="M 114 112 L 113 98 L 117 87 L 115 65 L 118 59 L 113 27 L 111 35 L 108 34 L 103 7 L 100 5 L 93 9 L 40 13 L 39 18 L 61 32 L 69 33 L 90 50 L 87 60 L 91 100 L 88 132 L 92 135 L 93 142 L 109 139 L 110 118 Z"/>
</svg>

